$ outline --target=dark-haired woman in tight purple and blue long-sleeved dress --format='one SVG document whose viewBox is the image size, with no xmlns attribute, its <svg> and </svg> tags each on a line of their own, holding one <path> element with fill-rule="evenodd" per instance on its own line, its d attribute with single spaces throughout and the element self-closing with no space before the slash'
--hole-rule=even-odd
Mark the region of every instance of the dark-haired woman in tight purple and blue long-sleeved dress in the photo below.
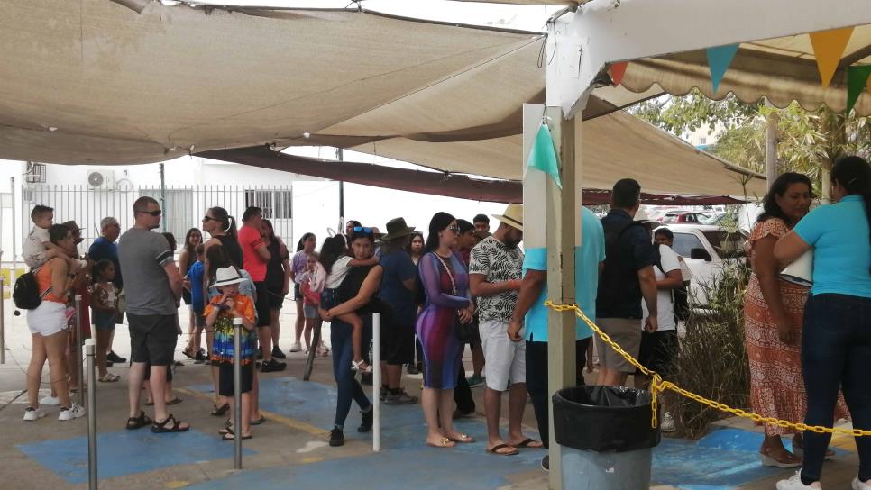
<svg viewBox="0 0 871 490">
<path fill-rule="evenodd" d="M 429 223 L 425 253 L 418 264 L 426 292 L 424 309 L 417 316 L 417 338 L 423 346 L 425 363 L 421 404 L 428 428 L 426 444 L 437 448 L 472 442 L 471 437 L 454 431 L 452 420 L 454 387 L 463 358 L 457 322 L 471 322 L 474 313 L 463 259 L 451 250 L 457 236 L 454 216 L 436 213 Z"/>
</svg>

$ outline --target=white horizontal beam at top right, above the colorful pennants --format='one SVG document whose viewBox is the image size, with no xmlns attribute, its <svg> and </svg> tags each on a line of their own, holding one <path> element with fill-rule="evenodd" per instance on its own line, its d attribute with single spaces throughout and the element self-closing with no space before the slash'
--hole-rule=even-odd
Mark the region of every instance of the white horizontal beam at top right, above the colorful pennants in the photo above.
<svg viewBox="0 0 871 490">
<path fill-rule="evenodd" d="M 572 117 L 615 61 L 868 23 L 866 0 L 592 0 L 555 20 L 547 104 Z"/>
</svg>

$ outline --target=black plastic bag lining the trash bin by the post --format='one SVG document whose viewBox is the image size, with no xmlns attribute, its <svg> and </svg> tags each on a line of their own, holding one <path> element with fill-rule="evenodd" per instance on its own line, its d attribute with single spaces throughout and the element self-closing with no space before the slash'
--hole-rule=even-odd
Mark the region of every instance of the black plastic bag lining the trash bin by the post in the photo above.
<svg viewBox="0 0 871 490">
<path fill-rule="evenodd" d="M 650 393 L 624 386 L 575 386 L 554 395 L 557 444 L 595 452 L 653 448 L 661 440 L 650 426 Z M 657 413 L 658 416 L 658 413 Z"/>
</svg>

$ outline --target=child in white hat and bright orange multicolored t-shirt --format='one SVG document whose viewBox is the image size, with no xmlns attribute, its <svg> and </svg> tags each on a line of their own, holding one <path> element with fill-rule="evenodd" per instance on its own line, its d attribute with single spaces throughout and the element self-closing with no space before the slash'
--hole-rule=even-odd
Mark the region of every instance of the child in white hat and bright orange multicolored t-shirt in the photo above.
<svg viewBox="0 0 871 490">
<path fill-rule="evenodd" d="M 239 358 L 242 362 L 242 431 L 230 426 L 221 429 L 222 439 L 234 440 L 237 436 L 251 439 L 251 390 L 254 383 L 254 357 L 257 354 L 257 333 L 254 331 L 254 303 L 246 295 L 239 294 L 239 283 L 245 279 L 235 268 L 219 268 L 215 274 L 215 286 L 220 295 L 206 305 L 206 327 L 215 331 L 212 347 L 212 364 L 218 366 L 218 394 L 229 398 L 233 420 L 234 397 L 234 318 L 242 319 Z"/>
</svg>

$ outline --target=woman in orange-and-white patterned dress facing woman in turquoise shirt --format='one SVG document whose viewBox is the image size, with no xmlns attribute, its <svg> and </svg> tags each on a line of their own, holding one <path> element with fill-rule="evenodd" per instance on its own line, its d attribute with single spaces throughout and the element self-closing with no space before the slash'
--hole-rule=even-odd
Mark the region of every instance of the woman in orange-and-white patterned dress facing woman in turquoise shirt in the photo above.
<svg viewBox="0 0 871 490">
<path fill-rule="evenodd" d="M 801 422 L 807 411 L 802 381 L 801 338 L 809 289 L 779 277 L 775 243 L 808 213 L 811 180 L 788 172 L 777 177 L 747 241 L 753 274 L 744 296 L 744 334 L 750 366 L 750 405 L 764 417 Z M 839 400 L 836 417 L 847 413 Z M 793 433 L 793 451 L 802 448 L 802 433 L 771 424 L 759 449 L 764 466 L 800 467 L 802 458 L 784 448 L 781 436 Z"/>
</svg>

